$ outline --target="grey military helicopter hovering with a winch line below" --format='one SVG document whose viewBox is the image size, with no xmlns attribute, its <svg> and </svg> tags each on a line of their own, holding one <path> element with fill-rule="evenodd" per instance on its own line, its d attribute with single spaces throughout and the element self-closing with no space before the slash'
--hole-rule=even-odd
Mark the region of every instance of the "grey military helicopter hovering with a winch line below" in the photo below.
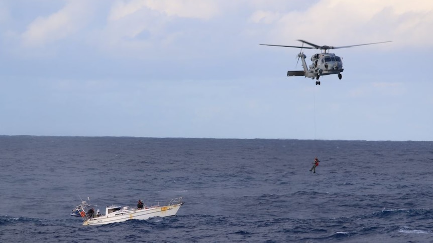
<svg viewBox="0 0 433 243">
<path fill-rule="evenodd" d="M 367 43 L 367 44 L 359 44 L 359 45 L 351 45 L 351 46 L 341 46 L 341 47 L 333 47 L 333 46 L 318 46 L 312 44 L 310 42 L 306 42 L 304 40 L 297 40 L 302 42 L 302 46 L 281 46 L 281 45 L 269 45 L 269 44 L 260 44 L 262 46 L 274 46 L 274 47 L 292 47 L 292 48 L 300 48 L 301 51 L 297 55 L 298 61 L 301 59 L 302 68 L 304 70 L 301 71 L 287 71 L 287 76 L 304 76 L 305 78 L 316 79 L 316 85 L 320 85 L 320 81 L 318 79 L 323 75 L 331 75 L 337 74 L 339 79 L 342 79 L 341 72 L 343 72 L 343 62 L 342 59 L 336 56 L 334 53 L 330 53 L 330 49 L 341 49 L 341 48 L 349 48 L 349 47 L 357 47 L 357 46 L 365 46 L 365 45 L 373 45 L 386 42 L 375 42 L 375 43 Z M 310 47 L 304 47 L 304 44 L 309 45 Z M 319 49 L 320 53 L 316 53 L 311 56 L 312 64 L 308 66 L 305 62 L 305 54 L 302 52 L 302 49 Z"/>
</svg>

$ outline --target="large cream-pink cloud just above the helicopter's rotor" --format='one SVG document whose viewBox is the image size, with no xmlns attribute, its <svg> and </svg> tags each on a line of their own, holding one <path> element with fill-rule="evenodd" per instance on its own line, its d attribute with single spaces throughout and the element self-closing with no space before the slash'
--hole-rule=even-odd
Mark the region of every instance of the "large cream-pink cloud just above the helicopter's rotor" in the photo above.
<svg viewBox="0 0 433 243">
<path fill-rule="evenodd" d="M 334 46 L 388 40 L 393 47 L 433 45 L 426 31 L 433 26 L 431 1 L 321 0 L 304 11 L 257 10 L 251 19 L 257 16 L 267 20 L 272 42 L 305 38 Z"/>
</svg>

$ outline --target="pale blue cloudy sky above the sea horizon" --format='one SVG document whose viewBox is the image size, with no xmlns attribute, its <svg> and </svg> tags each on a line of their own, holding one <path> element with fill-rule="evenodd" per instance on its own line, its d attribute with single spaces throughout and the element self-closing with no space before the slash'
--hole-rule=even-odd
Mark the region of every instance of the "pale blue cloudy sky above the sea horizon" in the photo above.
<svg viewBox="0 0 433 243">
<path fill-rule="evenodd" d="M 432 26 L 424 0 L 0 0 L 0 134 L 433 141 Z M 315 85 L 259 45 L 298 39 L 392 42 Z"/>
</svg>

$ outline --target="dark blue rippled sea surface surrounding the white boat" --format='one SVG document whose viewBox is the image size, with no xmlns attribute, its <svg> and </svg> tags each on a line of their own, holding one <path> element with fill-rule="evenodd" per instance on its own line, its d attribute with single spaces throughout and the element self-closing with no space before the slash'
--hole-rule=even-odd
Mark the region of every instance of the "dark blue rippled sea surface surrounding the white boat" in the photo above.
<svg viewBox="0 0 433 243">
<path fill-rule="evenodd" d="M 0 165 L 1 242 L 433 241 L 433 142 L 0 136 Z M 185 204 L 82 226 L 78 195 Z"/>
</svg>

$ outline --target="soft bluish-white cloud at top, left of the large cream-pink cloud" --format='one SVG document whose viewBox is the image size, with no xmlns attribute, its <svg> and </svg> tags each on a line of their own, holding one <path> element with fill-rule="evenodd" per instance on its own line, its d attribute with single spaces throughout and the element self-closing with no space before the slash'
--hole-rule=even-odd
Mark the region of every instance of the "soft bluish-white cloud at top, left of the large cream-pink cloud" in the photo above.
<svg viewBox="0 0 433 243">
<path fill-rule="evenodd" d="M 202 28 L 223 14 L 221 7 L 219 1 L 115 1 L 105 27 L 93 34 L 93 45 L 117 57 L 190 57 L 194 51 L 186 49 L 200 49 L 194 42 L 210 33 Z"/>
</svg>

